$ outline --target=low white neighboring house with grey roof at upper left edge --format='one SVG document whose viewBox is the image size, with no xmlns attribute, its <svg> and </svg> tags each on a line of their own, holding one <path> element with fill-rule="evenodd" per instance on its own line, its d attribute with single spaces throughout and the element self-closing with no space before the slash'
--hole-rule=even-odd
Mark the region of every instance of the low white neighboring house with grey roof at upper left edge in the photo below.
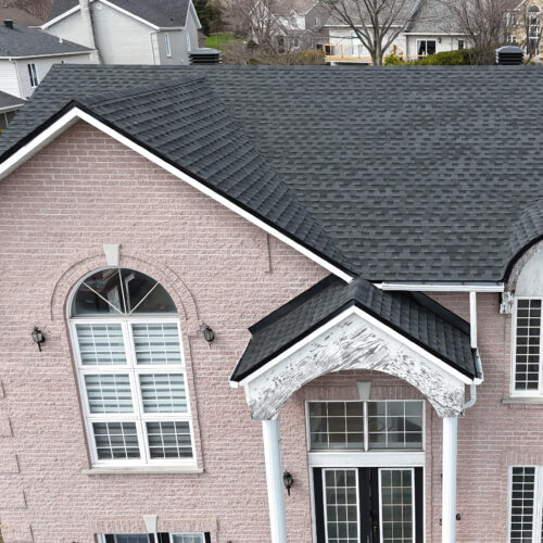
<svg viewBox="0 0 543 543">
<path fill-rule="evenodd" d="M 53 64 L 86 64 L 90 53 L 87 47 L 4 21 L 0 24 L 0 91 L 28 98 Z"/>
</svg>

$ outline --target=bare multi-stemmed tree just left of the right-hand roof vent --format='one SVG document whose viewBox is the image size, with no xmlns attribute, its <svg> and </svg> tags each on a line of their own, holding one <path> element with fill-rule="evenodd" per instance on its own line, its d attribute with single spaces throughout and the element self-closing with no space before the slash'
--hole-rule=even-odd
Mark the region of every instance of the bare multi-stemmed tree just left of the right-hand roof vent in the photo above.
<svg viewBox="0 0 543 543">
<path fill-rule="evenodd" d="M 493 64 L 495 49 L 507 42 L 507 16 L 520 0 L 442 0 L 454 25 L 473 46 L 473 62 Z"/>
</svg>

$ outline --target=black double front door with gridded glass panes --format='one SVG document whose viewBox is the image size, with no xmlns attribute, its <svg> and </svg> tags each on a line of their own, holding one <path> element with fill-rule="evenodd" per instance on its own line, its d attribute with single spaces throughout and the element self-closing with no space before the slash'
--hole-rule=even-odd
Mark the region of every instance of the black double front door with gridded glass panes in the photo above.
<svg viewBox="0 0 543 543">
<path fill-rule="evenodd" d="M 422 543 L 424 469 L 314 468 L 317 543 Z"/>
</svg>

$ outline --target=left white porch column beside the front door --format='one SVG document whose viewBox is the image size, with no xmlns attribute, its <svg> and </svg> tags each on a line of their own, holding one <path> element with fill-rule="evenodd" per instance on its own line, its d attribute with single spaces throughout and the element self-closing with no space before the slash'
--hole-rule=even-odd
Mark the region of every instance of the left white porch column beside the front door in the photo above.
<svg viewBox="0 0 543 543">
<path fill-rule="evenodd" d="M 262 421 L 272 543 L 287 543 L 279 418 Z"/>
</svg>

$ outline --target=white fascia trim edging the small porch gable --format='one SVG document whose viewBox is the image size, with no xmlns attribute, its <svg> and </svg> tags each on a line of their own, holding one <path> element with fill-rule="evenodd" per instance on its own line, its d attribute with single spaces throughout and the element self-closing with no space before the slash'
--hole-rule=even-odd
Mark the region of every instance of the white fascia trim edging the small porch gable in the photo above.
<svg viewBox="0 0 543 543">
<path fill-rule="evenodd" d="M 353 306 L 346 308 L 343 313 L 337 315 L 331 320 L 328 320 L 328 323 L 324 324 L 320 328 L 316 329 L 315 331 L 313 331 L 312 333 L 310 333 L 305 338 L 301 339 L 298 343 L 295 343 L 291 348 L 287 349 L 286 351 L 283 351 L 282 353 L 277 355 L 272 361 L 264 364 L 264 366 L 258 368 L 256 371 L 253 371 L 251 375 L 247 376 L 241 381 L 237 382 L 237 381 L 232 381 L 230 379 L 230 387 L 232 387 L 232 388 L 245 387 L 248 383 L 250 383 L 251 381 L 253 381 L 254 379 L 256 379 L 261 375 L 265 374 L 266 371 L 268 371 L 270 368 L 273 368 L 277 364 L 280 364 L 285 358 L 289 357 L 291 354 L 294 354 L 296 351 L 299 351 L 300 349 L 305 346 L 307 343 L 317 339 L 319 336 L 325 333 L 327 330 L 334 327 L 337 324 L 341 323 L 342 320 L 344 320 L 345 318 L 350 317 L 353 314 L 357 315 L 358 317 L 366 320 L 370 325 L 374 325 L 375 327 L 380 328 L 386 333 L 388 333 L 389 336 L 391 336 L 392 338 L 397 340 L 400 343 L 403 343 L 404 345 L 406 345 L 411 350 L 415 351 L 417 354 L 424 356 L 431 364 L 438 366 L 440 369 L 442 369 L 446 374 L 453 376 L 458 381 L 460 381 L 465 384 L 471 384 L 473 382 L 473 379 L 470 379 L 468 376 L 466 376 L 466 375 L 462 374 L 460 371 L 458 371 L 457 369 L 453 368 L 452 366 L 450 366 L 449 364 L 443 362 L 441 358 L 438 358 L 433 354 L 429 353 L 426 349 L 419 346 L 417 343 L 409 340 L 408 338 L 406 338 L 402 333 L 396 332 L 395 330 L 393 330 L 392 328 L 390 328 L 386 324 L 381 323 L 381 320 L 372 317 L 371 315 L 369 315 L 365 311 L 353 305 Z"/>
</svg>

